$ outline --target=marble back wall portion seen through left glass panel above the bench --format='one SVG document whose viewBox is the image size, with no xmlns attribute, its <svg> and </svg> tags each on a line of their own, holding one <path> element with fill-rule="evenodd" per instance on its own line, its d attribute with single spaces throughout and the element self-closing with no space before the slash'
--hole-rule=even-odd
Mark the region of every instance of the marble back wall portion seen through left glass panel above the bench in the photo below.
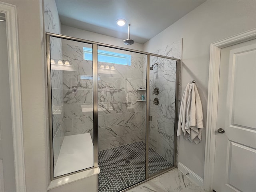
<svg viewBox="0 0 256 192">
<path fill-rule="evenodd" d="M 63 60 L 70 62 L 63 69 L 64 135 L 90 133 L 93 139 L 92 61 L 84 60 L 83 47 L 92 45 L 62 40 Z"/>
</svg>

